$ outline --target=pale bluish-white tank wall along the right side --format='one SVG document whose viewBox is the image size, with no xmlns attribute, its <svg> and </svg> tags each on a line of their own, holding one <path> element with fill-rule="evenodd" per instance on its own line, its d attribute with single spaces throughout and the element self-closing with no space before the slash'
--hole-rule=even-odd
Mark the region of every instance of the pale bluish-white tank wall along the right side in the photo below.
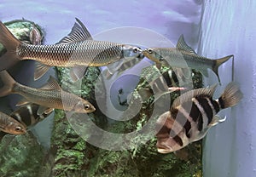
<svg viewBox="0 0 256 177">
<path fill-rule="evenodd" d="M 212 128 L 204 141 L 204 176 L 256 176 L 256 2 L 205 1 L 200 54 L 218 58 L 235 55 L 235 81 L 244 94 L 224 123 Z M 224 86 L 230 82 L 231 62 L 220 68 Z M 213 78 L 214 80 L 216 78 Z M 209 80 L 209 83 L 212 83 Z M 214 80 L 216 81 L 216 80 Z"/>
</svg>

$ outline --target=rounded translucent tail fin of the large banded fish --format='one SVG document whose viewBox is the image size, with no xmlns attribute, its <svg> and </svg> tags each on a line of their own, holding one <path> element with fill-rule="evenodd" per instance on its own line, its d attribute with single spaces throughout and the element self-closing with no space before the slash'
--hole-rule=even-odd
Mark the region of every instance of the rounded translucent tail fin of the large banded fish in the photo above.
<svg viewBox="0 0 256 177">
<path fill-rule="evenodd" d="M 218 99 L 218 103 L 222 109 L 227 107 L 236 106 L 236 104 L 242 99 L 242 93 L 235 82 L 229 83 L 224 89 L 224 93 L 221 94 Z"/>
</svg>

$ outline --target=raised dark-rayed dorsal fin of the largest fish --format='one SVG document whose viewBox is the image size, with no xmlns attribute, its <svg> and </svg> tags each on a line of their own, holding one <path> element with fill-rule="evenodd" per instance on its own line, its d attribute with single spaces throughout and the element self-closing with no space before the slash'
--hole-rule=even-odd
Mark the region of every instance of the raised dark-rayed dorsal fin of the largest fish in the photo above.
<svg viewBox="0 0 256 177">
<path fill-rule="evenodd" d="M 84 24 L 76 18 L 77 22 L 73 25 L 71 32 L 67 35 L 67 37 L 63 37 L 60 43 L 76 43 L 84 40 L 92 40 L 90 32 L 84 26 Z"/>
</svg>

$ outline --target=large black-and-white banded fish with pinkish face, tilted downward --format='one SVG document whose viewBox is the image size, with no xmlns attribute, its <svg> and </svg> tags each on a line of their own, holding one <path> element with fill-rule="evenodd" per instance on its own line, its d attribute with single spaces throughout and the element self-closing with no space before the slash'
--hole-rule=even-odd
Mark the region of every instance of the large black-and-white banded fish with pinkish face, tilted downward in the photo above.
<svg viewBox="0 0 256 177">
<path fill-rule="evenodd" d="M 224 122 L 226 117 L 218 116 L 218 111 L 236 106 L 242 99 L 237 83 L 231 82 L 224 88 L 217 100 L 212 99 L 217 84 L 208 88 L 197 88 L 181 94 L 156 121 L 158 131 L 157 149 L 169 153 L 182 149 L 196 140 L 201 140 L 209 128 Z"/>
</svg>

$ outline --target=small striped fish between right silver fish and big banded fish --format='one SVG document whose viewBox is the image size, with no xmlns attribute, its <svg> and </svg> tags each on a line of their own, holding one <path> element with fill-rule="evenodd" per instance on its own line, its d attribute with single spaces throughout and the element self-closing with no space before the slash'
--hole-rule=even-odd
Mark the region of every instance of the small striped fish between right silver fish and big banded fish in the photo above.
<svg viewBox="0 0 256 177">
<path fill-rule="evenodd" d="M 177 76 L 177 72 L 168 70 L 160 74 L 159 77 L 154 78 L 148 83 L 147 88 L 140 88 L 138 94 L 141 95 L 142 100 L 148 100 L 148 98 L 154 95 L 154 101 L 158 100 L 164 94 L 170 94 L 174 91 L 184 90 L 186 88 L 180 87 L 180 78 Z"/>
</svg>

